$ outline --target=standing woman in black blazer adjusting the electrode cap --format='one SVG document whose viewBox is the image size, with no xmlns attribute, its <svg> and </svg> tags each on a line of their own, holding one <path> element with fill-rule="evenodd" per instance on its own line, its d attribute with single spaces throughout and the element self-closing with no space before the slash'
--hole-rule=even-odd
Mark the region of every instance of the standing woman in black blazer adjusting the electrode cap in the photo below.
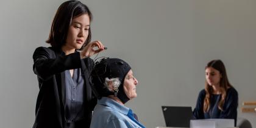
<svg viewBox="0 0 256 128">
<path fill-rule="evenodd" d="M 33 54 L 40 91 L 33 127 L 90 127 L 96 99 L 91 92 L 91 55 L 104 50 L 91 40 L 91 12 L 79 1 L 60 5 L 46 43 Z M 77 51 L 81 50 L 81 51 Z"/>
</svg>

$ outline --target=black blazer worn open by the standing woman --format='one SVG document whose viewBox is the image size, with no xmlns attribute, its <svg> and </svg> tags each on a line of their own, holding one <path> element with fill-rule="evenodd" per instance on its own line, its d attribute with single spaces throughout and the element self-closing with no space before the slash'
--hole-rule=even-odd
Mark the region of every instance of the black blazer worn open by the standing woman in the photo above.
<svg viewBox="0 0 256 128">
<path fill-rule="evenodd" d="M 37 74 L 40 91 L 35 107 L 35 123 L 33 128 L 55 127 L 62 128 L 65 123 L 65 70 L 81 68 L 85 79 L 84 103 L 85 126 L 90 127 L 91 113 L 96 105 L 91 91 L 90 73 L 93 60 L 80 59 L 79 52 L 65 55 L 61 49 L 39 47 L 33 54 L 34 73 Z"/>
</svg>

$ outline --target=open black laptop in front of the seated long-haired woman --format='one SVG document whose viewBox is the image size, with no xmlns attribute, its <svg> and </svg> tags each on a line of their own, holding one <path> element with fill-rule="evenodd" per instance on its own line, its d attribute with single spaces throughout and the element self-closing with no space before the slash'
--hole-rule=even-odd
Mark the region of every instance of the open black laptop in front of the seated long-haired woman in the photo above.
<svg viewBox="0 0 256 128">
<path fill-rule="evenodd" d="M 162 106 L 166 127 L 190 127 L 191 107 Z"/>
</svg>

